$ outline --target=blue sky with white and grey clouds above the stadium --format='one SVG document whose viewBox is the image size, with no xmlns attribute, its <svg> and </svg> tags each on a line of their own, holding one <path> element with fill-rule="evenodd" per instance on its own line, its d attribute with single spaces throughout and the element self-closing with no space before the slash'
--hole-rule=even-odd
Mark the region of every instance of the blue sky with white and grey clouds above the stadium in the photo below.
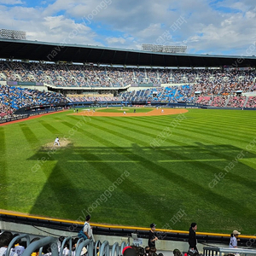
<svg viewBox="0 0 256 256">
<path fill-rule="evenodd" d="M 0 28 L 28 40 L 190 54 L 256 55 L 255 0 L 0 0 Z"/>
</svg>

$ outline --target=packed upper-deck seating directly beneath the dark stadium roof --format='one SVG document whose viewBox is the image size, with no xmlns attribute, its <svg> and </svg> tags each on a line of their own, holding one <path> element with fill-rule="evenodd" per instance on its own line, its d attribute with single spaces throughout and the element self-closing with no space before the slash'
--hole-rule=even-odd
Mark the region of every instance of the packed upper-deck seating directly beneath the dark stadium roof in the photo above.
<svg viewBox="0 0 256 256">
<path fill-rule="evenodd" d="M 120 88 L 129 84 L 195 84 L 205 94 L 253 91 L 256 71 L 185 68 L 98 67 L 0 61 L 0 81 L 38 82 L 57 87 Z"/>
</svg>

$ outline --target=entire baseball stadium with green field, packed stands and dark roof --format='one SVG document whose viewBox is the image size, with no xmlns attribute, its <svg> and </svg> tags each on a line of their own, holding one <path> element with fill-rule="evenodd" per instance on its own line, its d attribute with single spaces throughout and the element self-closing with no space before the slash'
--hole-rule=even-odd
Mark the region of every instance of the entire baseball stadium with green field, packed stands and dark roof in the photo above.
<svg viewBox="0 0 256 256">
<path fill-rule="evenodd" d="M 204 255 L 234 253 L 233 230 L 255 254 L 255 56 L 0 38 L 0 57 L 0 229 L 22 255 L 59 236 L 71 255 L 88 215 L 73 255 L 145 247 L 151 223 L 185 252 L 194 222 Z"/>
</svg>

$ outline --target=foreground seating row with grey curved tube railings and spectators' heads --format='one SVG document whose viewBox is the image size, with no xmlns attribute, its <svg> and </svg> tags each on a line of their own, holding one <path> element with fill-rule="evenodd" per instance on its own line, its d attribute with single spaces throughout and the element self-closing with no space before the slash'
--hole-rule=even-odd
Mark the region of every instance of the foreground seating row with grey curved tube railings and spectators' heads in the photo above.
<svg viewBox="0 0 256 256">
<path fill-rule="evenodd" d="M 128 250 L 127 250 L 128 249 Z M 93 241 L 71 236 L 31 237 L 12 234 L 6 230 L 0 235 L 0 256 L 158 256 L 155 247 L 138 247 L 122 241 L 111 247 L 108 241 Z M 160 254 L 159 254 L 160 255 Z M 163 254 L 161 253 L 161 256 Z"/>
</svg>

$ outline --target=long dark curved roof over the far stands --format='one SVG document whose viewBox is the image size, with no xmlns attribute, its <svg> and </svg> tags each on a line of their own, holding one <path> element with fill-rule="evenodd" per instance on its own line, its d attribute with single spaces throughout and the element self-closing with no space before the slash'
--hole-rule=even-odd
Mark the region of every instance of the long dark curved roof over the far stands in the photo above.
<svg viewBox="0 0 256 256">
<path fill-rule="evenodd" d="M 256 67 L 256 57 L 190 55 L 0 38 L 0 58 L 149 67 Z"/>
</svg>

